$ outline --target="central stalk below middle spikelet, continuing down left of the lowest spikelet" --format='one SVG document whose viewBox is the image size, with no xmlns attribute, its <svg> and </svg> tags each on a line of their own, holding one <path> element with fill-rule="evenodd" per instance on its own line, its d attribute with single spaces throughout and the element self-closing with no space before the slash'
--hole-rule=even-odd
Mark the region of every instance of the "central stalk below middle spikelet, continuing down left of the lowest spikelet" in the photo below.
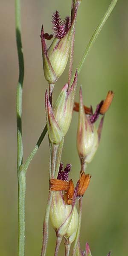
<svg viewBox="0 0 128 256">
<path fill-rule="evenodd" d="M 49 160 L 49 178 L 55 177 L 55 170 L 59 168 L 58 159 L 60 161 L 61 159 L 61 153 L 62 153 L 62 147 L 63 143 L 60 145 L 55 145 L 53 143 L 49 142 L 49 148 L 50 148 L 50 160 Z M 52 203 L 52 193 L 49 191 L 48 200 L 47 200 L 47 206 L 44 216 L 44 225 L 43 225 L 43 241 L 42 241 L 42 249 L 41 249 L 41 256 L 46 255 L 47 250 L 47 242 L 48 242 L 48 230 L 49 230 L 49 213 L 50 213 L 50 207 Z"/>
</svg>

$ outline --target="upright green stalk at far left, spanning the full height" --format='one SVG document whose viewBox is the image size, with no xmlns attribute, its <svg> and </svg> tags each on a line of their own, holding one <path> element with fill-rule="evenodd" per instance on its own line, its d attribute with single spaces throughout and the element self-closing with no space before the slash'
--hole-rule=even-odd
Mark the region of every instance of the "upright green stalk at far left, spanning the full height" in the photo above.
<svg viewBox="0 0 128 256">
<path fill-rule="evenodd" d="M 24 256 L 25 243 L 25 172 L 20 171 L 23 162 L 23 142 L 22 142 L 22 89 L 24 78 L 24 61 L 21 41 L 21 18 L 20 0 L 15 0 L 15 29 L 17 54 L 19 61 L 19 79 L 17 83 L 16 112 L 17 112 L 17 179 L 18 179 L 18 256 Z"/>
</svg>

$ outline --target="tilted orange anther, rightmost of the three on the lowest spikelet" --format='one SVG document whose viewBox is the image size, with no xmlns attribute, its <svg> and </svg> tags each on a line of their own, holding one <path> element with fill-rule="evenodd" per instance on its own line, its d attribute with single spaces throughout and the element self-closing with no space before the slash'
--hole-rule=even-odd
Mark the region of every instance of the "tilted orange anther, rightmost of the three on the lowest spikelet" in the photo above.
<svg viewBox="0 0 128 256">
<path fill-rule="evenodd" d="M 81 173 L 80 180 L 79 180 L 79 187 L 78 187 L 78 196 L 84 195 L 89 183 L 90 183 L 91 176 L 89 174 L 85 174 L 84 172 Z"/>
</svg>

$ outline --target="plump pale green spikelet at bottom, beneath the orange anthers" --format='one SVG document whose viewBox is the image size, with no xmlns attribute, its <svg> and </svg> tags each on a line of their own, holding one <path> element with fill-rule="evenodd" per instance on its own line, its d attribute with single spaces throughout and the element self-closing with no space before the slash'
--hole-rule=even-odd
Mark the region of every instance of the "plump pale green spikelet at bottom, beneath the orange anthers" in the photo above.
<svg viewBox="0 0 128 256">
<path fill-rule="evenodd" d="M 76 237 L 78 212 L 75 204 L 65 204 L 60 191 L 53 192 L 50 219 L 57 235 L 64 236 L 72 243 Z"/>
</svg>

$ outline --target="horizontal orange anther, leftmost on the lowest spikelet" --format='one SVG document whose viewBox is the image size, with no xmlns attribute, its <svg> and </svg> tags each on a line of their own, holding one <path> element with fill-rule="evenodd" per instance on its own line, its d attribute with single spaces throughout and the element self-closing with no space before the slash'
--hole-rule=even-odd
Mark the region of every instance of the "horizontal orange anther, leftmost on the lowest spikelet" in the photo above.
<svg viewBox="0 0 128 256">
<path fill-rule="evenodd" d="M 61 190 L 68 190 L 69 189 L 69 182 L 64 180 L 58 179 L 50 179 L 49 180 L 50 191 L 61 191 Z"/>
</svg>

